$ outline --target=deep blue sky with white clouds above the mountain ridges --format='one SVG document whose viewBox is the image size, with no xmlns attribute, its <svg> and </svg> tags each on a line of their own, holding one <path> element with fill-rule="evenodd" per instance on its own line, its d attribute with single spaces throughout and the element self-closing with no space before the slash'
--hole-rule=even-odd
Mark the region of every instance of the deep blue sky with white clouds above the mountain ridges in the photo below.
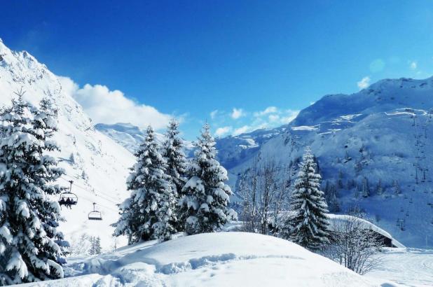
<svg viewBox="0 0 433 287">
<path fill-rule="evenodd" d="M 4 1 L 0 37 L 73 80 L 95 121 L 175 115 L 188 139 L 204 120 L 238 134 L 324 94 L 432 76 L 432 1 L 302 2 Z M 110 106 L 120 98 L 134 102 Z"/>
</svg>

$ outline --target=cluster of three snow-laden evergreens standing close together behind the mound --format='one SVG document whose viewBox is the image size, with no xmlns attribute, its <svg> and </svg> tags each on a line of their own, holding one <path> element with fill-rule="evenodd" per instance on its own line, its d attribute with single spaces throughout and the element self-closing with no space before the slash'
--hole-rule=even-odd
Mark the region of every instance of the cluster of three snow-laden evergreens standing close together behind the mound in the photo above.
<svg viewBox="0 0 433 287">
<path fill-rule="evenodd" d="M 228 208 L 232 191 L 224 183 L 227 172 L 216 158 L 207 123 L 194 146 L 194 158 L 187 160 L 179 123 L 174 119 L 162 145 L 156 141 L 152 127 L 147 128 L 127 180 L 131 195 L 118 206 L 115 236 L 126 235 L 128 244 L 166 241 L 176 232 L 215 232 L 236 218 L 235 211 Z"/>
</svg>

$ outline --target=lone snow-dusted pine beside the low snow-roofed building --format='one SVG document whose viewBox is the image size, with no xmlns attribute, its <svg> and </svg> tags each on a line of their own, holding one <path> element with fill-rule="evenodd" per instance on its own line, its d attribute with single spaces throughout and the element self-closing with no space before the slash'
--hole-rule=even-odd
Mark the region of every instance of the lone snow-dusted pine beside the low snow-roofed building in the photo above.
<svg viewBox="0 0 433 287">
<path fill-rule="evenodd" d="M 314 157 L 308 147 L 291 195 L 294 216 L 287 220 L 284 229 L 287 230 L 285 237 L 312 250 L 329 243 L 328 207 L 324 193 L 319 189 L 320 180 L 321 176 L 316 172 Z"/>
</svg>

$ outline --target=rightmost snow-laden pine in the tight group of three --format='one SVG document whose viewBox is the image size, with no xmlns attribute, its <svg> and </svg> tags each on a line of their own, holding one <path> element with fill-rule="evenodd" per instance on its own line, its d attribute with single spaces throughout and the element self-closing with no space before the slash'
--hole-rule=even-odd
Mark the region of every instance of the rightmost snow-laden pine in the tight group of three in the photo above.
<svg viewBox="0 0 433 287">
<path fill-rule="evenodd" d="M 215 232 L 228 221 L 237 217 L 228 208 L 231 188 L 227 181 L 227 171 L 218 160 L 215 141 L 205 123 L 201 137 L 195 141 L 195 157 L 191 165 L 190 177 L 182 193 L 181 206 L 186 217 L 185 231 L 189 235 Z"/>
</svg>

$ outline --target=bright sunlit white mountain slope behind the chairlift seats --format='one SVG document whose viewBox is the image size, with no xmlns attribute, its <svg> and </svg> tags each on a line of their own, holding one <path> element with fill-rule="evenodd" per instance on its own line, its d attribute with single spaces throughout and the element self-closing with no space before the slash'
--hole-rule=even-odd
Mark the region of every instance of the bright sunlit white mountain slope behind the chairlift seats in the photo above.
<svg viewBox="0 0 433 287">
<path fill-rule="evenodd" d="M 95 131 L 81 106 L 62 88 L 60 81 L 47 67 L 28 52 L 13 52 L 0 41 L 0 105 L 9 104 L 22 88 L 25 99 L 38 104 L 50 97 L 59 110 L 59 132 L 55 140 L 62 148 L 55 156 L 66 171 L 59 183 L 69 186 L 78 195 L 78 204 L 71 210 L 63 207 L 67 222 L 60 225 L 75 250 L 83 250 L 88 242 L 83 234 L 100 236 L 102 246 L 114 245 L 109 225 L 118 217 L 116 204 L 128 196 L 125 179 L 134 157 L 104 134 Z M 102 221 L 88 221 L 92 202 L 102 212 Z M 120 244 L 120 242 L 119 242 Z"/>
</svg>

